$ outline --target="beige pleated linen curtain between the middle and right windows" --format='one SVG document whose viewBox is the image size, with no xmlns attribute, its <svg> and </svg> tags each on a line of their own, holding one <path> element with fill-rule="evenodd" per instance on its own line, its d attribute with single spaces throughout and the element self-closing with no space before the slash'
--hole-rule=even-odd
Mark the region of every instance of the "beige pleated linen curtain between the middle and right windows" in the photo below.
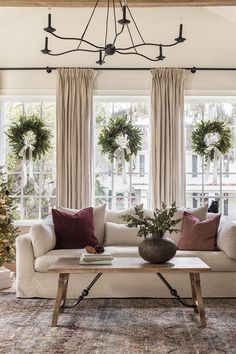
<svg viewBox="0 0 236 354">
<path fill-rule="evenodd" d="M 185 205 L 183 69 L 152 69 L 152 207 Z"/>
</svg>

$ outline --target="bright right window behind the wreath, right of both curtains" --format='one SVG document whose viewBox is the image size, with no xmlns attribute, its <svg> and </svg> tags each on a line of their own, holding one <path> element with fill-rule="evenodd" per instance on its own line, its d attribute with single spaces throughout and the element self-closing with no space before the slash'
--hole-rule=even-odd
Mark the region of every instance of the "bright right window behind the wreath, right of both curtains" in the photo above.
<svg viewBox="0 0 236 354">
<path fill-rule="evenodd" d="M 204 161 L 192 153 L 191 133 L 201 119 L 227 118 L 232 128 L 233 147 L 218 164 L 217 184 L 213 183 L 212 168 L 208 180 Z M 236 98 L 187 97 L 185 102 L 186 136 L 186 195 L 187 206 L 197 207 L 203 202 L 219 200 L 224 218 L 236 218 Z"/>
</svg>

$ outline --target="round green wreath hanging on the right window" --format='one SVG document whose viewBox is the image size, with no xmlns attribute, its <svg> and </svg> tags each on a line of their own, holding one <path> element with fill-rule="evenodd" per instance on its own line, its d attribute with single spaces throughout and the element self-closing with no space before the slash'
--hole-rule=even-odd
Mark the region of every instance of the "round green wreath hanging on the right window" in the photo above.
<svg viewBox="0 0 236 354">
<path fill-rule="evenodd" d="M 202 120 L 192 132 L 192 149 L 206 160 L 214 160 L 215 148 L 225 155 L 232 147 L 231 129 L 225 120 Z"/>
</svg>

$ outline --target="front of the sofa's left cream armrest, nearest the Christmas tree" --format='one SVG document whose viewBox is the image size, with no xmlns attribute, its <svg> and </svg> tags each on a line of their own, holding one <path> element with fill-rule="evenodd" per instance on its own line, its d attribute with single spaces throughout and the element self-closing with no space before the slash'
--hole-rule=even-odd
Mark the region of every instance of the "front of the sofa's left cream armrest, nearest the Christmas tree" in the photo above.
<svg viewBox="0 0 236 354">
<path fill-rule="evenodd" d="M 34 277 L 34 251 L 30 234 L 16 238 L 16 295 L 25 297 L 24 289 L 32 286 Z"/>
</svg>

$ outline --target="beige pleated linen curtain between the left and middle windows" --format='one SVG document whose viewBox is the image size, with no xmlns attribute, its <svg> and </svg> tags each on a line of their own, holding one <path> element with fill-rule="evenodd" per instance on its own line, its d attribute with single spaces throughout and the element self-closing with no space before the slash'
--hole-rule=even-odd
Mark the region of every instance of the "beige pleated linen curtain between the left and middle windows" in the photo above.
<svg viewBox="0 0 236 354">
<path fill-rule="evenodd" d="M 96 72 L 57 70 L 57 206 L 91 205 L 91 107 Z"/>
</svg>

